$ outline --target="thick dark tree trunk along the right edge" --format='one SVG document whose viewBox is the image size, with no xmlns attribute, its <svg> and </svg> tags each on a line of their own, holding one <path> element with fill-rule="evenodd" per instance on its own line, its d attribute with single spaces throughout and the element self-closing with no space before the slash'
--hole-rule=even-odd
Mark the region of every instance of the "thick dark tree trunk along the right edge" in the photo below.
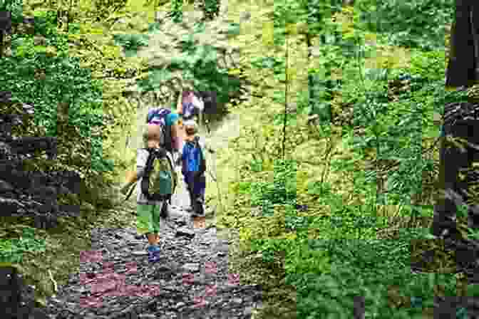
<svg viewBox="0 0 479 319">
<path fill-rule="evenodd" d="M 455 19 L 450 37 L 450 56 L 446 71 L 446 87 L 466 88 L 479 80 L 479 4 L 473 0 L 455 1 Z M 444 107 L 443 135 L 441 136 L 441 150 L 439 157 L 438 196 L 434 205 L 433 224 L 431 232 L 436 236 L 453 243 L 450 249 L 461 243 L 465 247 L 465 256 L 473 256 L 475 263 L 456 256 L 458 271 L 466 275 L 477 273 L 479 261 L 479 242 L 475 239 L 464 238 L 458 230 L 456 215 L 459 206 L 465 206 L 468 215 L 468 227 L 479 228 L 479 206 L 477 196 L 473 194 L 470 185 L 478 180 L 478 170 L 473 168 L 473 162 L 479 159 L 479 152 L 475 150 L 479 138 L 479 105 L 470 102 L 448 103 Z M 463 150 L 449 141 L 449 137 L 460 137 L 469 144 Z M 448 137 L 446 139 L 446 137 Z M 460 177 L 463 173 L 466 177 Z M 473 204 L 468 204 L 472 202 Z M 461 221 L 463 223 L 463 221 Z M 463 226 L 463 225 L 461 225 Z M 468 279 L 473 280 L 468 276 Z"/>
</svg>

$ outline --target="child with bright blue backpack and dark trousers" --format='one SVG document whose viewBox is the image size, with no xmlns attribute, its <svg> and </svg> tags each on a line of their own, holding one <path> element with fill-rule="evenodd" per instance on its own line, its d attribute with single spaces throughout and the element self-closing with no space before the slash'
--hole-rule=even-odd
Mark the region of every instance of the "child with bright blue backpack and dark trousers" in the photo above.
<svg viewBox="0 0 479 319">
<path fill-rule="evenodd" d="M 214 151 L 200 140 L 195 121 L 186 121 L 184 125 L 185 145 L 181 152 L 181 171 L 190 194 L 191 207 L 188 210 L 192 210 L 193 215 L 203 216 L 205 214 L 203 204 L 205 203 L 206 189 L 206 158 L 202 150 L 208 150 L 211 153 Z"/>
</svg>

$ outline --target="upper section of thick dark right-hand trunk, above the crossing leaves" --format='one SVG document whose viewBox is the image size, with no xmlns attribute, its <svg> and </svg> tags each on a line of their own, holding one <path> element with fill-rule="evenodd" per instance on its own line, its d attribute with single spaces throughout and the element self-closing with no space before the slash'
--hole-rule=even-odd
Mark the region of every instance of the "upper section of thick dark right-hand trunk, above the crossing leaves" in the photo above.
<svg viewBox="0 0 479 319">
<path fill-rule="evenodd" d="M 472 86 L 479 79 L 479 4 L 474 0 L 456 0 L 450 35 L 448 69 L 445 85 Z"/>
</svg>

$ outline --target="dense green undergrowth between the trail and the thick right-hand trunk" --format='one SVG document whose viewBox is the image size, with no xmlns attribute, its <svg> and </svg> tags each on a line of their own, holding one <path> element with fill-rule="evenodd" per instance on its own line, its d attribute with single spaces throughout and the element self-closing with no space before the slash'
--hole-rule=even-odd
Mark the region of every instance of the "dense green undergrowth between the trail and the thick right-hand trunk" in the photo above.
<svg viewBox="0 0 479 319">
<path fill-rule="evenodd" d="M 261 318 L 353 318 L 362 298 L 365 318 L 433 318 L 435 296 L 476 288 L 428 229 L 436 119 L 464 99 L 444 89 L 452 8 L 312 2 L 265 4 L 259 15 L 274 21 L 244 56 L 258 85 L 247 112 L 261 124 L 244 121 L 233 146 L 242 156 L 221 222 L 240 231 L 235 270 L 264 285 Z"/>
</svg>

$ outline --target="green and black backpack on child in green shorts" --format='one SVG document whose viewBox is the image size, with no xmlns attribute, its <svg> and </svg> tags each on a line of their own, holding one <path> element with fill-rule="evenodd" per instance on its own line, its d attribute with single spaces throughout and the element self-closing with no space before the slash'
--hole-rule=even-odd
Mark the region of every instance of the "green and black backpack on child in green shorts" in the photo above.
<svg viewBox="0 0 479 319">
<path fill-rule="evenodd" d="M 171 200 L 176 188 L 176 172 L 172 160 L 163 149 L 145 149 L 148 159 L 141 179 L 141 192 L 148 200 Z"/>
</svg>

